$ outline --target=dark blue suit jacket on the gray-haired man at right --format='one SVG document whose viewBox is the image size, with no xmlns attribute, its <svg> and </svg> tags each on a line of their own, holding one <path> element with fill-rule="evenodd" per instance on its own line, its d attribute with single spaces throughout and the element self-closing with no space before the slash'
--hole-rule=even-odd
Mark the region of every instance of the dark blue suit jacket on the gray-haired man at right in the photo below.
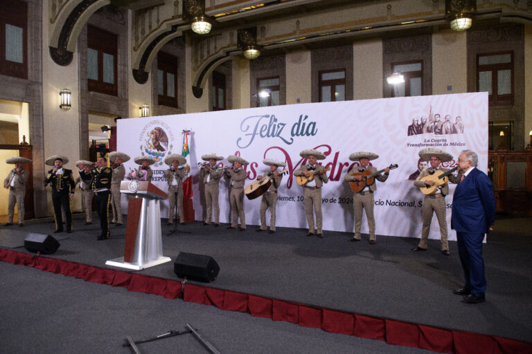
<svg viewBox="0 0 532 354">
<path fill-rule="evenodd" d="M 491 180 L 476 167 L 454 189 L 451 227 L 459 232 L 486 234 L 495 221 Z"/>
</svg>

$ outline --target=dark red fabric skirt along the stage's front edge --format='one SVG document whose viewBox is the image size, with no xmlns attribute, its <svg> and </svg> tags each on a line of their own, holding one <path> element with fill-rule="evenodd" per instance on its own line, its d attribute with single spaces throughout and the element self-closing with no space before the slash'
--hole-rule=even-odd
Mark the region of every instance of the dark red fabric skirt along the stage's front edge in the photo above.
<svg viewBox="0 0 532 354">
<path fill-rule="evenodd" d="M 345 313 L 189 283 L 185 284 L 184 293 L 181 296 L 181 281 L 98 268 L 3 248 L 0 248 L 0 261 L 27 265 L 45 272 L 63 274 L 93 283 L 121 286 L 129 291 L 159 295 L 166 299 L 183 297 L 184 301 L 216 306 L 222 310 L 249 313 L 255 317 L 265 317 L 274 321 L 321 328 L 330 333 L 379 339 L 388 344 L 423 348 L 439 353 L 532 353 L 532 343 L 515 339 Z"/>
</svg>

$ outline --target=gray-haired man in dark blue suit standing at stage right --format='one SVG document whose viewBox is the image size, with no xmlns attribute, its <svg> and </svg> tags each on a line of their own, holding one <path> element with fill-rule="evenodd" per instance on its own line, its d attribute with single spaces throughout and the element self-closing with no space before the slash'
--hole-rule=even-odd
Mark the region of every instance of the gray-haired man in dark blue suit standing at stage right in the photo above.
<svg viewBox="0 0 532 354">
<path fill-rule="evenodd" d="M 471 150 L 463 150 L 458 157 L 461 182 L 454 189 L 451 227 L 456 230 L 458 252 L 465 284 L 454 289 L 463 295 L 467 304 L 486 301 L 486 277 L 482 259 L 482 241 L 495 221 L 495 195 L 491 180 L 477 169 L 479 158 Z"/>
</svg>

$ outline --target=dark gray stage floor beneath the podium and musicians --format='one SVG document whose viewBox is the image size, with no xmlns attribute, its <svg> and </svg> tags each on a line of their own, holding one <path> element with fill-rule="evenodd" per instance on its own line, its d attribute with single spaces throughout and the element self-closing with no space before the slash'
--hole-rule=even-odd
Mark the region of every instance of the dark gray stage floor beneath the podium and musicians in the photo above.
<svg viewBox="0 0 532 354">
<path fill-rule="evenodd" d="M 439 241 L 432 240 L 426 252 L 411 252 L 418 239 L 377 236 L 377 243 L 370 245 L 367 235 L 360 242 L 348 242 L 351 234 L 345 232 L 325 231 L 318 239 L 307 237 L 302 229 L 278 227 L 269 234 L 248 225 L 238 232 L 227 230 L 227 224 L 203 226 L 199 221 L 178 225 L 177 232 L 167 236 L 172 227 L 166 220 L 162 223 L 163 255 L 172 262 L 132 273 L 181 280 L 173 272 L 177 254 L 206 254 L 220 265 L 218 279 L 189 283 L 532 342 L 532 235 L 497 232 L 497 223 L 484 246 L 487 301 L 476 305 L 463 304 L 452 294 L 463 285 L 455 242 L 450 242 L 451 255 L 446 257 Z M 53 230 L 49 218 L 28 221 L 25 227 L 1 226 L 0 247 L 27 252 L 23 244 L 28 232 L 49 233 L 61 245 L 46 257 L 118 270 L 105 261 L 123 255 L 125 225 L 112 225 L 111 238 L 105 241 L 96 240 L 98 223 L 83 225 L 82 215 L 74 217 L 71 234 Z"/>
</svg>

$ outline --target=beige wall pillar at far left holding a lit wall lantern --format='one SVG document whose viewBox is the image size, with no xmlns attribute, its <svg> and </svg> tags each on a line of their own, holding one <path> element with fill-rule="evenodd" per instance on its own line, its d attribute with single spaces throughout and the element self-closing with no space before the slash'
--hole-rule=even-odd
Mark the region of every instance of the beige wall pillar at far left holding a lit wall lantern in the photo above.
<svg viewBox="0 0 532 354">
<path fill-rule="evenodd" d="M 43 19 L 48 19 L 48 6 L 43 6 Z M 80 90 L 78 75 L 78 50 L 74 52 L 68 66 L 59 66 L 53 62 L 48 50 L 48 24 L 42 21 L 42 114 L 44 116 L 44 157 L 64 154 L 69 158 L 65 165 L 77 176 L 74 162 L 80 159 Z M 59 108 L 59 91 L 69 88 L 72 92 L 72 108 L 63 111 Z M 45 167 L 46 171 L 49 167 Z M 48 214 L 52 215 L 50 188 L 48 190 Z M 80 194 L 72 203 L 72 210 L 81 209 Z"/>
</svg>

